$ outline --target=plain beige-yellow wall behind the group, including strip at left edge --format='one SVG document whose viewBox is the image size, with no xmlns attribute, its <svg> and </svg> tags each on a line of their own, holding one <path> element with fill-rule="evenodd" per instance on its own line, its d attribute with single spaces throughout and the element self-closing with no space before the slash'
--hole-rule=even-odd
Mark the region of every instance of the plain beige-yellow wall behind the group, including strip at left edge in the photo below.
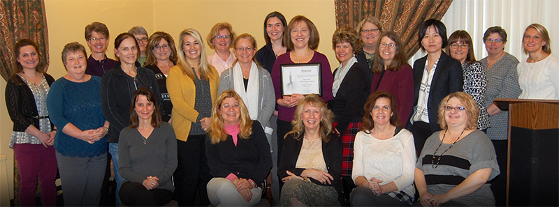
<svg viewBox="0 0 559 207">
<path fill-rule="evenodd" d="M 316 24 L 321 35 L 317 49 L 326 54 L 332 68 L 338 66 L 331 43 L 335 30 L 334 1 L 270 1 L 270 0 L 217 0 L 217 1 L 177 1 L 177 0 L 45 0 L 49 31 L 50 67 L 48 73 L 58 79 L 66 74 L 60 56 L 66 43 L 78 41 L 88 51 L 84 29 L 91 22 L 103 22 L 110 31 L 107 56 L 114 59 L 112 49 L 114 38 L 132 26 L 141 25 L 147 33 L 166 31 L 175 40 L 183 29 L 194 28 L 205 38 L 217 22 L 229 22 L 237 34 L 250 33 L 259 47 L 264 43 L 263 19 L 277 10 L 283 13 L 287 22 L 295 15 L 305 15 Z M 208 44 L 205 44 L 210 50 Z M 6 82 L 0 81 L 0 154 L 8 156 L 8 183 L 10 199 L 13 198 L 13 150 L 8 148 L 12 121 L 6 111 L 4 90 Z"/>
</svg>

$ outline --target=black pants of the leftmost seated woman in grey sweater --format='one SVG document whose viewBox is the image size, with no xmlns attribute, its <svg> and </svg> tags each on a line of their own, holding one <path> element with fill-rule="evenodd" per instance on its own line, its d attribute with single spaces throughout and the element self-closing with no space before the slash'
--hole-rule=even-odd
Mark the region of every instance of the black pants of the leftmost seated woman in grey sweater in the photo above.
<svg viewBox="0 0 559 207">
<path fill-rule="evenodd" d="M 118 194 L 126 206 L 163 206 L 173 198 L 170 190 L 147 190 L 142 183 L 133 182 L 122 183 Z"/>
</svg>

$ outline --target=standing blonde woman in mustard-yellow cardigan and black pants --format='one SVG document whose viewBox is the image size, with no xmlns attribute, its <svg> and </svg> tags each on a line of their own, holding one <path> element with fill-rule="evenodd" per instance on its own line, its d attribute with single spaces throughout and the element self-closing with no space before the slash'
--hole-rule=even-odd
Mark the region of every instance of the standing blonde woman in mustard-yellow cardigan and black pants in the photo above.
<svg viewBox="0 0 559 207">
<path fill-rule="evenodd" d="M 205 131 L 212 122 L 210 116 L 219 75 L 205 59 L 203 40 L 198 31 L 182 31 L 179 45 L 177 66 L 170 68 L 167 77 L 167 90 L 173 102 L 171 125 L 177 135 L 178 148 L 175 200 L 180 206 L 192 206 L 198 189 L 201 206 L 208 206 L 206 184 L 211 176 L 204 140 Z"/>
</svg>

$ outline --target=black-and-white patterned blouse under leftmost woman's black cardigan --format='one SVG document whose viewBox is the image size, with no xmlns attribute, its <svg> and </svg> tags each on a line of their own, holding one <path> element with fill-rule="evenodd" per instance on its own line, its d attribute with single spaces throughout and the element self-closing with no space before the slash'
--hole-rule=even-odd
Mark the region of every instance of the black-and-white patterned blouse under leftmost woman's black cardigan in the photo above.
<svg viewBox="0 0 559 207">
<path fill-rule="evenodd" d="M 41 80 L 41 84 L 33 84 L 22 75 L 17 74 L 20 78 L 27 84 L 33 96 L 35 98 L 35 105 L 37 106 L 37 111 L 39 113 L 38 116 L 48 116 L 47 111 L 47 95 L 48 91 L 50 90 L 50 86 L 48 86 L 47 79 L 43 75 L 43 79 Z M 39 129 L 41 132 L 48 133 L 50 132 L 50 120 L 48 118 L 40 118 L 39 119 Z M 37 139 L 37 137 L 30 135 L 27 132 L 12 132 L 12 137 L 10 139 L 10 148 L 13 148 L 13 144 L 41 144 L 41 141 Z"/>
</svg>

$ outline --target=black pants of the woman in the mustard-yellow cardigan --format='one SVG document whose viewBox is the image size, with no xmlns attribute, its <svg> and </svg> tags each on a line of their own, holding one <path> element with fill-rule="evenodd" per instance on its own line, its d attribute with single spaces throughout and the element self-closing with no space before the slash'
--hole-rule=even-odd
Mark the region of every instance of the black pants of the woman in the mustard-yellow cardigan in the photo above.
<svg viewBox="0 0 559 207">
<path fill-rule="evenodd" d="M 212 179 L 205 155 L 205 135 L 189 135 L 187 141 L 177 140 L 178 167 L 175 171 L 175 201 L 179 206 L 194 206 L 196 191 L 200 206 L 210 205 L 206 185 Z"/>
</svg>

